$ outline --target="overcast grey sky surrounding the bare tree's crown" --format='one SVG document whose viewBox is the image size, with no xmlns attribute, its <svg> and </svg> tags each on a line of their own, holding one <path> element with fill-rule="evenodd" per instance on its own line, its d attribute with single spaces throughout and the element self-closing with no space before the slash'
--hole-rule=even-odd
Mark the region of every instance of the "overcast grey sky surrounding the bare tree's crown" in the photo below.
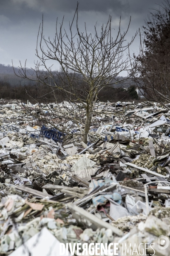
<svg viewBox="0 0 170 256">
<path fill-rule="evenodd" d="M 119 17 L 122 30 L 127 28 L 131 16 L 127 40 L 144 24 L 144 19 L 161 0 L 79 0 L 79 26 L 82 29 L 86 22 L 88 31 L 106 23 L 108 15 L 112 16 L 113 28 L 117 28 Z M 65 26 L 73 17 L 77 0 L 0 0 L 0 64 L 17 67 L 19 60 L 27 67 L 34 66 L 37 33 L 44 15 L 44 34 L 51 38 L 55 35 L 55 23 L 58 17 Z M 131 46 L 132 51 L 139 49 L 139 38 Z M 57 68 L 54 64 L 54 68 Z"/>
</svg>

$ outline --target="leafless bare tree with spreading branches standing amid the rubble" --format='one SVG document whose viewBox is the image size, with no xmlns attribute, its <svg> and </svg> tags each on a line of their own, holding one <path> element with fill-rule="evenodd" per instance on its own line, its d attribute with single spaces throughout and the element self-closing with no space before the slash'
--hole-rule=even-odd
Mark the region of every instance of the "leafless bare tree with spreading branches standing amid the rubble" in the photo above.
<svg viewBox="0 0 170 256">
<path fill-rule="evenodd" d="M 80 129 L 80 131 L 83 134 L 83 141 L 87 143 L 91 119 L 95 113 L 94 102 L 97 100 L 98 93 L 103 87 L 126 81 L 135 72 L 130 65 L 128 48 L 133 43 L 137 32 L 127 43 L 126 35 L 130 21 L 125 32 L 121 32 L 119 23 L 118 32 L 113 38 L 111 16 L 107 24 L 102 25 L 100 31 L 95 25 L 94 34 L 88 33 L 85 25 L 84 31 L 81 32 L 78 26 L 78 5 L 68 32 L 63 28 L 63 20 L 61 24 L 57 21 L 56 34 L 51 40 L 43 35 L 42 19 L 36 51 L 40 62 L 37 62 L 32 69 L 31 80 L 50 87 L 55 102 L 57 102 L 57 92 L 64 95 L 72 107 L 65 105 L 65 108 L 60 108 L 58 105 L 59 112 L 54 111 L 53 115 L 70 119 L 79 128 L 80 124 L 84 125 L 84 130 Z M 61 70 L 55 72 L 52 67 L 48 67 L 49 60 L 57 61 Z M 42 67 L 45 71 L 42 71 Z M 126 78 L 120 76 L 123 71 L 127 73 Z M 30 80 L 26 64 L 22 66 L 20 63 L 19 74 L 20 77 Z M 79 116 L 71 115 L 75 113 L 75 109 L 79 110 Z M 80 112 L 84 110 L 85 114 L 81 115 Z M 48 121 L 51 122 L 51 119 Z"/>
</svg>

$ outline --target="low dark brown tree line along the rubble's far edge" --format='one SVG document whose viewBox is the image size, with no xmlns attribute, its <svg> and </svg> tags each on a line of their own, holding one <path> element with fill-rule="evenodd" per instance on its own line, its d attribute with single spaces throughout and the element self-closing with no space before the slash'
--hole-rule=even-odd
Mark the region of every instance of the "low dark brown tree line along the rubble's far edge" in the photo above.
<svg viewBox="0 0 170 256">
<path fill-rule="evenodd" d="M 28 83 L 28 84 L 11 84 L 9 81 L 0 79 L 0 99 L 20 99 L 23 102 L 29 100 L 32 104 L 36 102 L 50 103 L 54 102 L 54 94 L 57 102 L 62 102 L 67 100 L 59 90 L 54 93 L 51 92 L 49 87 L 45 87 L 40 83 Z M 128 89 L 123 87 L 105 87 L 98 95 L 98 100 L 106 102 L 116 102 L 116 101 L 132 101 L 137 100 L 138 94 L 136 92 L 136 87 L 131 85 Z"/>
</svg>

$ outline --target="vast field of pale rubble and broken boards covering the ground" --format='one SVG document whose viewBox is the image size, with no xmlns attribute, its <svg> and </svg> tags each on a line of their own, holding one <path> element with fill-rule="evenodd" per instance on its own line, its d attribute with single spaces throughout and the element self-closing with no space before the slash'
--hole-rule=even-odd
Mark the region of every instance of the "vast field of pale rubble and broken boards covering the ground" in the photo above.
<svg viewBox="0 0 170 256">
<path fill-rule="evenodd" d="M 160 239 L 170 242 L 168 105 L 97 106 L 85 144 L 83 125 L 62 133 L 36 123 L 37 105 L 0 105 L 0 255 L 34 255 L 35 240 L 43 248 L 47 237 L 55 246 L 119 243 L 124 255 L 131 244 L 129 255 L 140 255 L 143 244 L 146 255 L 170 255 Z"/>
</svg>

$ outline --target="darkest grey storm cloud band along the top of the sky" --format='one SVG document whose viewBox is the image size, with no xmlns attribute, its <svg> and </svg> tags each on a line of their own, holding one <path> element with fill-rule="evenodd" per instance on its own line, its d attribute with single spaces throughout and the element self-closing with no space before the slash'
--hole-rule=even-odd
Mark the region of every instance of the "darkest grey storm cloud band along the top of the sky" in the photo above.
<svg viewBox="0 0 170 256">
<path fill-rule="evenodd" d="M 157 0 L 157 3 L 161 3 Z M 0 0 L 0 12 L 11 15 L 17 20 L 34 17 L 42 12 L 50 16 L 60 12 L 74 11 L 77 0 Z M 79 11 L 101 12 L 113 15 L 133 15 L 147 13 L 148 8 L 155 7 L 156 0 L 79 0 Z"/>
</svg>

